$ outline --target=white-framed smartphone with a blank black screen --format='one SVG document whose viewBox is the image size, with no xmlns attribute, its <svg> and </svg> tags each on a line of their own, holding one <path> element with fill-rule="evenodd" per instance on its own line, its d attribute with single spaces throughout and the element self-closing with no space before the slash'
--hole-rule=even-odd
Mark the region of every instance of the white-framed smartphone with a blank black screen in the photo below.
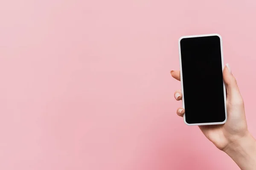
<svg viewBox="0 0 256 170">
<path fill-rule="evenodd" d="M 227 108 L 221 36 L 204 34 L 180 37 L 179 54 L 185 124 L 224 124 L 227 121 Z"/>
</svg>

